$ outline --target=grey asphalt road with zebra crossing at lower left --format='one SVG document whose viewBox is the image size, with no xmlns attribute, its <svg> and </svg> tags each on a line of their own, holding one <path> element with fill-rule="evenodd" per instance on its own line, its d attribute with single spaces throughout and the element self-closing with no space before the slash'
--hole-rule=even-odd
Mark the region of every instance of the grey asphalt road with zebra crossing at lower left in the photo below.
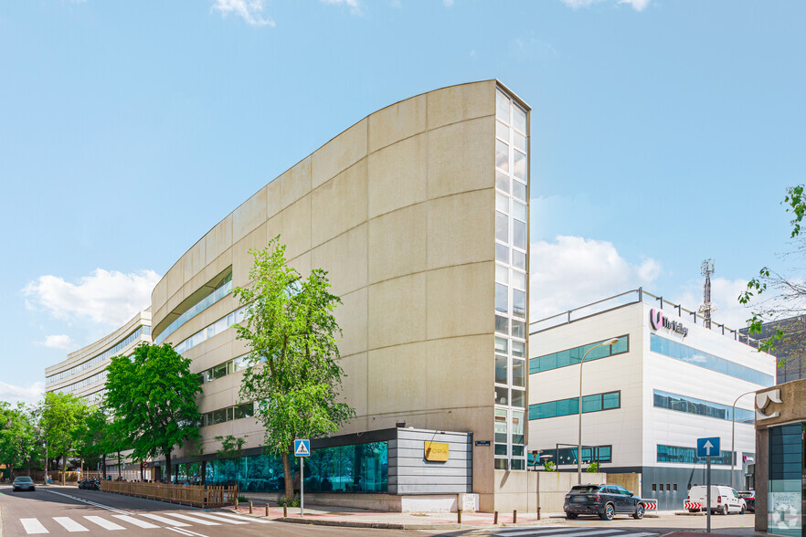
<svg viewBox="0 0 806 537">
<path fill-rule="evenodd" d="M 111 533 L 113 532 L 113 533 Z M 199 510 L 78 488 L 37 487 L 13 492 L 0 487 L 0 537 L 115 535 L 131 537 L 233 537 L 234 535 L 361 535 L 378 530 L 306 526 Z M 384 531 L 395 535 L 408 532 Z M 410 534 L 410 533 L 408 533 Z"/>
</svg>

